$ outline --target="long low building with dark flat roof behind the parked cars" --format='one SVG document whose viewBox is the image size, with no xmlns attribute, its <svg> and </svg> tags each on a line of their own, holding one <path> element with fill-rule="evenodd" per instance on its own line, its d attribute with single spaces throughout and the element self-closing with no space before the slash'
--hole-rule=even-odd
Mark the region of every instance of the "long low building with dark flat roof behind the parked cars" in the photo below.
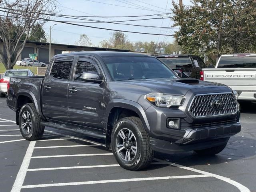
<svg viewBox="0 0 256 192">
<path fill-rule="evenodd" d="M 4 49 L 4 44 L 2 41 L 0 41 L 0 49 L 4 50 L 4 56 L 7 57 L 6 50 Z M 24 58 L 29 58 L 30 53 L 37 53 L 38 60 L 40 62 L 44 62 L 44 63 L 48 64 L 49 60 L 50 60 L 49 57 L 52 58 L 56 54 L 61 54 L 62 51 L 121 51 L 121 52 L 128 52 L 130 50 L 51 43 L 51 56 L 50 56 L 49 55 L 49 43 L 27 41 L 25 48 L 23 49 L 18 60 L 22 60 Z"/>
</svg>

